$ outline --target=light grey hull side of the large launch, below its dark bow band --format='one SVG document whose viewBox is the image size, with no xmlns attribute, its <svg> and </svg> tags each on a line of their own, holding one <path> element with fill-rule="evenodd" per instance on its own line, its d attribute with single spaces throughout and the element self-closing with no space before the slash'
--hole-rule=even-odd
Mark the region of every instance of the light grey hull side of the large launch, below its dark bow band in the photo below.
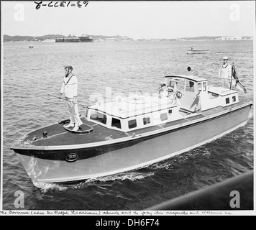
<svg viewBox="0 0 256 230">
<path fill-rule="evenodd" d="M 71 183 L 114 175 L 168 159 L 244 126 L 250 106 L 251 103 L 247 103 L 178 126 L 168 126 L 161 132 L 140 134 L 131 140 L 136 144 L 76 162 L 44 160 L 19 153 L 17 156 L 37 187 L 41 187 L 41 183 Z M 138 142 L 140 139 L 142 141 Z"/>
</svg>

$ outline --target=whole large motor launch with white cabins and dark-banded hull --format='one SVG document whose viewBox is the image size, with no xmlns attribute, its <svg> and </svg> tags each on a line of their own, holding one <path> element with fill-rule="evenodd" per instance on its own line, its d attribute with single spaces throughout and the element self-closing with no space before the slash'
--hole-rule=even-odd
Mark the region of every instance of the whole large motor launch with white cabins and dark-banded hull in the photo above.
<svg viewBox="0 0 256 230">
<path fill-rule="evenodd" d="M 11 149 L 35 186 L 114 175 L 168 159 L 247 124 L 252 102 L 194 75 L 165 77 L 168 93 L 134 94 L 88 106 L 70 132 L 56 122 Z"/>
</svg>

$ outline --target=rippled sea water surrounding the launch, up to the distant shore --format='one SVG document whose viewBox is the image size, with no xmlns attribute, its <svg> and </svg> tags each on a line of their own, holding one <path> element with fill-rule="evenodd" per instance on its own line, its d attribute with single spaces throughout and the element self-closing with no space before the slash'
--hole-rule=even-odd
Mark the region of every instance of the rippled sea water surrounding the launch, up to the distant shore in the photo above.
<svg viewBox="0 0 256 230">
<path fill-rule="evenodd" d="M 187 55 L 192 45 L 210 51 Z M 141 170 L 76 185 L 35 188 L 9 149 L 30 130 L 68 119 L 65 101 L 47 96 L 58 95 L 65 64 L 73 65 L 78 76 L 78 102 L 88 104 L 96 93 L 105 96 L 110 86 L 112 94 L 156 92 L 165 75 L 186 74 L 188 66 L 218 85 L 215 77 L 224 55 L 247 87 L 247 94 L 239 96 L 252 101 L 252 41 L 4 43 L 3 209 L 16 209 L 14 193 L 22 190 L 24 209 L 142 210 L 252 170 L 252 111 L 246 126 L 214 142 Z"/>
</svg>

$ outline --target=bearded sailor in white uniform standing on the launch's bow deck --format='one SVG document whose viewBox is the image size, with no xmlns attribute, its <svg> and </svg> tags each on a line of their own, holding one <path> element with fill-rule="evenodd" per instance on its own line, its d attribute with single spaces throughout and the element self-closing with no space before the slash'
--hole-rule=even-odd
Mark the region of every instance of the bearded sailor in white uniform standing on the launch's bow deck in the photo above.
<svg viewBox="0 0 256 230">
<path fill-rule="evenodd" d="M 74 127 L 73 131 L 77 131 L 79 126 L 83 124 L 79 118 L 78 104 L 77 104 L 77 91 L 78 91 L 78 80 L 76 75 L 72 73 L 72 65 L 64 65 L 65 76 L 63 79 L 63 84 L 60 89 L 60 96 L 65 96 L 65 101 L 67 103 L 68 112 L 70 114 L 70 123 L 65 125 L 65 127 Z"/>
</svg>

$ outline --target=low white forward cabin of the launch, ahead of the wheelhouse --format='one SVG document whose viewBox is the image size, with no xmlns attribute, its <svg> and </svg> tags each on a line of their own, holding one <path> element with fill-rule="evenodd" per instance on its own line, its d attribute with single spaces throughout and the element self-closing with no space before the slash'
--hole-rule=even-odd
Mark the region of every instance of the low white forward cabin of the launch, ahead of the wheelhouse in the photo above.
<svg viewBox="0 0 256 230">
<path fill-rule="evenodd" d="M 182 119 L 175 102 L 174 99 L 148 95 L 119 97 L 88 106 L 86 119 L 109 129 L 129 132 Z"/>
</svg>

